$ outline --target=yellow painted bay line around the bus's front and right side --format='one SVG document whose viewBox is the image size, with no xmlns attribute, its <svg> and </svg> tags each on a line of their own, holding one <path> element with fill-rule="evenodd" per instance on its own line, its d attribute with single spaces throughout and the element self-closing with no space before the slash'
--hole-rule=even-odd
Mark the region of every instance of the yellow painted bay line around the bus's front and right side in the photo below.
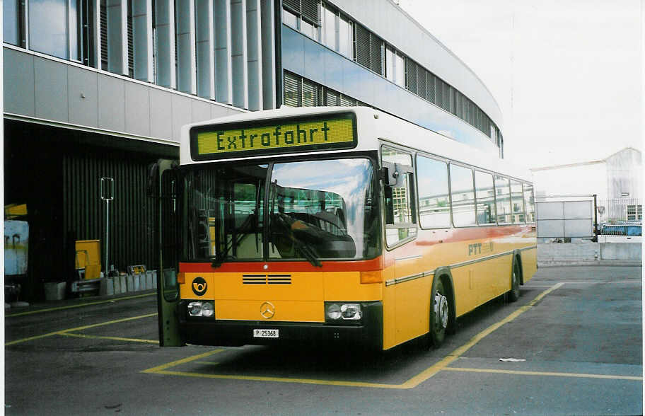
<svg viewBox="0 0 645 416">
<path fill-rule="evenodd" d="M 177 366 L 179 364 L 185 364 L 187 362 L 193 362 L 198 359 L 208 357 L 209 355 L 214 354 L 215 352 L 220 352 L 221 349 L 215 350 L 213 352 L 206 352 L 204 354 L 195 355 L 192 357 L 187 357 L 185 359 L 181 359 L 179 361 L 171 362 L 168 364 L 163 364 L 161 366 L 157 366 L 152 369 L 147 369 L 142 372 L 153 373 L 153 374 L 168 374 L 172 376 L 200 377 L 204 379 L 276 381 L 280 383 L 303 383 L 303 384 L 318 384 L 318 385 L 324 385 L 324 386 L 351 386 L 351 387 L 368 387 L 368 388 L 393 388 L 393 389 L 415 388 L 419 386 L 419 384 L 423 383 L 427 379 L 437 374 L 439 371 L 448 369 L 449 364 L 455 361 L 455 359 L 458 359 L 468 349 L 472 348 L 475 344 L 477 344 L 477 342 L 480 342 L 482 338 L 486 337 L 494 330 L 501 327 L 501 325 L 511 322 L 511 320 L 517 318 L 525 311 L 528 311 L 531 307 L 537 304 L 538 301 L 542 300 L 542 298 L 547 296 L 547 294 L 550 294 L 552 291 L 554 291 L 555 289 L 561 286 L 562 286 L 562 283 L 554 284 L 549 289 L 542 291 L 542 293 L 540 293 L 538 296 L 535 296 L 535 299 L 530 301 L 525 306 L 521 306 L 520 308 L 516 309 L 516 311 L 513 311 L 513 313 L 511 313 L 509 316 L 506 316 L 506 318 L 500 320 L 497 323 L 494 323 L 493 325 L 489 326 L 482 332 L 475 335 L 475 337 L 472 337 L 469 342 L 467 342 L 465 345 L 462 345 L 458 349 L 455 349 L 453 352 L 451 352 L 451 354 L 448 354 L 446 357 L 443 357 L 443 359 L 441 359 L 436 364 L 429 366 L 427 369 L 417 374 L 417 376 L 414 376 L 412 377 L 412 379 L 409 379 L 408 381 L 405 381 L 405 383 L 401 383 L 401 384 L 366 383 L 361 381 L 334 381 L 334 380 L 318 380 L 318 379 L 289 379 L 285 377 L 235 376 L 235 375 L 225 375 L 225 374 L 203 374 L 203 373 L 195 373 L 195 372 L 189 372 L 189 371 L 168 370 L 171 367 Z"/>
</svg>

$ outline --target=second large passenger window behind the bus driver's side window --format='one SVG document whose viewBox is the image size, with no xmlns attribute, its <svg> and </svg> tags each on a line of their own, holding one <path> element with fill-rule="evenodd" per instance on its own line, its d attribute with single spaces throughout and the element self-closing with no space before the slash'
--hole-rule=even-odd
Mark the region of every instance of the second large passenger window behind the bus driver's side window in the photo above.
<svg viewBox="0 0 645 416">
<path fill-rule="evenodd" d="M 451 163 L 450 171 L 453 224 L 457 227 L 477 225 L 472 170 Z"/>
</svg>

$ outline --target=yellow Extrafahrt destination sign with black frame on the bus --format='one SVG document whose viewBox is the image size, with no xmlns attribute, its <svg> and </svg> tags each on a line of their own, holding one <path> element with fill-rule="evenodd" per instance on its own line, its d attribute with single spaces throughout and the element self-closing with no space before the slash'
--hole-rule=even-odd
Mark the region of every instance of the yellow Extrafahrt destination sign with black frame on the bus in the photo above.
<svg viewBox="0 0 645 416">
<path fill-rule="evenodd" d="M 356 118 L 345 113 L 323 119 L 200 126 L 194 127 L 190 136 L 194 160 L 351 149 L 356 146 Z"/>
</svg>

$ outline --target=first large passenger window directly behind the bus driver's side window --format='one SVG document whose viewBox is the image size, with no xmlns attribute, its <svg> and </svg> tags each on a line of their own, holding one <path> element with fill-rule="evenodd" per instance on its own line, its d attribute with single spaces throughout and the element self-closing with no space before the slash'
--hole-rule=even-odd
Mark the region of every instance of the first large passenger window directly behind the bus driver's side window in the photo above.
<svg viewBox="0 0 645 416">
<path fill-rule="evenodd" d="M 419 223 L 422 229 L 448 228 L 450 198 L 448 197 L 448 166 L 445 162 L 417 156 L 419 184 Z"/>
</svg>

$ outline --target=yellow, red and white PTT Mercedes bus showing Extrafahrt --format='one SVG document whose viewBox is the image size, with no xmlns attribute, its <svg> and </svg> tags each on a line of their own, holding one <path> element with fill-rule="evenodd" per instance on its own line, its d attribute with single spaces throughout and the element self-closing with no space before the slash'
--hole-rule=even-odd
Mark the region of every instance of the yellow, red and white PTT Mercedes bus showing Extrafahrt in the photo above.
<svg viewBox="0 0 645 416">
<path fill-rule="evenodd" d="M 372 108 L 187 125 L 158 172 L 161 345 L 439 345 L 536 269 L 528 171 Z"/>
</svg>

